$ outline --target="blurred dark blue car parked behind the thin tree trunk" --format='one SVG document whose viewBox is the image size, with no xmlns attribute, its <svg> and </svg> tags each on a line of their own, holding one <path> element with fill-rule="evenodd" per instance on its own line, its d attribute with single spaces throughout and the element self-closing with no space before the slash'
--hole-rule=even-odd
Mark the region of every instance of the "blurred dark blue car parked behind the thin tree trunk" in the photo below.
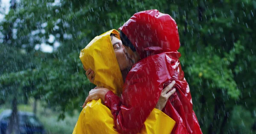
<svg viewBox="0 0 256 134">
<path fill-rule="evenodd" d="M 0 134 L 6 134 L 12 110 L 0 114 Z M 32 112 L 18 112 L 20 134 L 44 134 L 44 126 Z"/>
</svg>

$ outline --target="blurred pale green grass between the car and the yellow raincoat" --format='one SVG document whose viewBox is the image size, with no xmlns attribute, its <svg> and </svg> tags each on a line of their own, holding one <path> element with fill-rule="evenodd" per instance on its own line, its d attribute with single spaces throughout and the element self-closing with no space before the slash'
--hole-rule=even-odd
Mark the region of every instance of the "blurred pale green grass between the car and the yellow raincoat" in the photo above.
<svg viewBox="0 0 256 134">
<path fill-rule="evenodd" d="M 29 100 L 27 105 L 19 104 L 18 110 L 24 112 L 33 111 L 33 99 Z M 10 109 L 10 105 L 6 104 L 0 107 L 0 113 L 5 109 Z M 58 112 L 54 112 L 51 109 L 46 109 L 38 102 L 37 117 L 44 124 L 46 134 L 72 134 L 76 125 L 76 121 L 79 117 L 79 112 L 74 111 L 74 116 L 65 114 L 64 120 L 58 121 Z"/>
</svg>

